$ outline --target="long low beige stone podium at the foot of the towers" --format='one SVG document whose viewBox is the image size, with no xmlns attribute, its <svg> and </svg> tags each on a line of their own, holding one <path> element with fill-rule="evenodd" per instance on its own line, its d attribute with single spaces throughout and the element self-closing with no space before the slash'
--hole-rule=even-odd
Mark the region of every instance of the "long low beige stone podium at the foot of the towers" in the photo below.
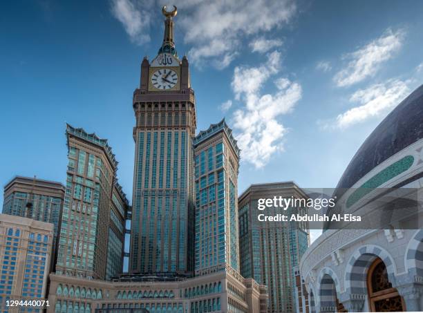
<svg viewBox="0 0 423 313">
<path fill-rule="evenodd" d="M 216 283 L 216 289 L 213 292 L 208 292 L 205 294 L 196 295 L 192 294 L 192 290 L 201 290 L 201 287 L 205 285 L 214 285 Z M 220 283 L 220 289 L 217 289 L 217 283 Z M 229 289 L 228 286 L 231 286 Z M 64 288 L 67 288 L 67 295 L 64 295 Z M 233 292 L 234 287 L 236 287 L 237 294 Z M 57 295 L 57 290 L 60 288 L 62 290 Z M 70 296 L 70 290 L 73 288 L 73 296 Z M 75 296 L 75 290 L 79 290 L 79 296 Z M 91 298 L 86 296 L 82 297 L 81 291 L 87 290 L 91 292 Z M 191 296 L 189 296 L 189 290 L 191 290 Z M 204 290 L 204 289 L 203 289 Z M 96 292 L 95 297 L 93 297 L 93 292 Z M 101 293 L 101 298 L 98 297 L 99 292 Z M 123 292 L 126 293 L 126 299 L 122 298 Z M 135 298 L 131 296 L 131 299 L 127 298 L 129 292 L 132 294 L 137 294 Z M 138 292 L 151 292 L 153 296 L 147 297 L 138 297 Z M 164 292 L 167 292 L 167 297 L 164 296 Z M 173 296 L 171 296 L 171 293 Z M 187 292 L 187 293 L 186 293 Z M 154 294 L 156 293 L 156 297 Z M 191 306 L 194 307 L 196 303 L 202 301 L 209 301 L 212 303 L 212 300 L 219 299 L 220 301 L 220 310 L 214 310 L 213 312 L 231 312 L 228 310 L 228 303 L 236 305 L 237 307 L 242 308 L 245 312 L 258 313 L 266 312 L 261 308 L 263 300 L 267 298 L 265 294 L 265 287 L 258 285 L 254 280 L 246 279 L 240 281 L 239 278 L 227 274 L 226 272 L 216 272 L 214 274 L 209 274 L 205 276 L 198 276 L 194 278 L 188 278 L 183 281 L 174 281 L 174 282 L 123 282 L 123 281 L 100 281 L 100 280 L 88 280 L 85 278 L 75 278 L 71 276 L 61 276 L 56 274 L 50 274 L 50 292 L 48 295 L 48 300 L 50 301 L 50 307 L 48 307 L 47 312 L 55 312 L 55 305 L 57 303 L 64 303 L 66 301 L 67 305 L 69 303 L 78 303 L 78 307 L 81 308 L 87 307 L 89 305 L 90 311 L 94 312 L 97 308 L 108 307 L 109 305 L 113 307 L 135 307 L 138 305 L 144 305 L 144 307 L 149 304 L 151 305 L 176 305 L 178 312 L 178 307 L 182 305 L 182 312 L 191 312 Z M 267 308 L 265 308 L 267 309 Z"/>
</svg>

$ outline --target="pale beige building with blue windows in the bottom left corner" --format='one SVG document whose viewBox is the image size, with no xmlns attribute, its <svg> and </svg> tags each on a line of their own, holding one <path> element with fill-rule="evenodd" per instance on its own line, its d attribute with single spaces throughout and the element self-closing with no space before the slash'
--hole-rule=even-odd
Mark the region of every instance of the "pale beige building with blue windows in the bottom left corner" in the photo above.
<svg viewBox="0 0 423 313">
<path fill-rule="evenodd" d="M 6 301 L 46 299 L 54 225 L 0 214 L 0 311 L 41 312 L 41 307 L 10 307 Z"/>
</svg>

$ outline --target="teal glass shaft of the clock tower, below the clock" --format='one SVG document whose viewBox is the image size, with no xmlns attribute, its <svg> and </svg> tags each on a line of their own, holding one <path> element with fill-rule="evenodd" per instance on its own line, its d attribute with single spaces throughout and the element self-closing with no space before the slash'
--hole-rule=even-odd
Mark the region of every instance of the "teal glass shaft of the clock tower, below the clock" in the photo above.
<svg viewBox="0 0 423 313">
<path fill-rule="evenodd" d="M 189 272 L 189 133 L 139 131 L 135 144 L 130 269 Z"/>
</svg>

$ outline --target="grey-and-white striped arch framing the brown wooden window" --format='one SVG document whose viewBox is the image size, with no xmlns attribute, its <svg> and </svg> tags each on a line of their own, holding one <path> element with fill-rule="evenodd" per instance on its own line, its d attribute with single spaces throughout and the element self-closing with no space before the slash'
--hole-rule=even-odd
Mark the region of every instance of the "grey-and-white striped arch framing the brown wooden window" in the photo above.
<svg viewBox="0 0 423 313">
<path fill-rule="evenodd" d="M 345 290 L 350 296 L 367 295 L 367 272 L 376 258 L 381 258 L 384 261 L 389 281 L 395 285 L 397 268 L 392 256 L 384 248 L 377 245 L 364 245 L 354 252 L 346 265 Z"/>
</svg>

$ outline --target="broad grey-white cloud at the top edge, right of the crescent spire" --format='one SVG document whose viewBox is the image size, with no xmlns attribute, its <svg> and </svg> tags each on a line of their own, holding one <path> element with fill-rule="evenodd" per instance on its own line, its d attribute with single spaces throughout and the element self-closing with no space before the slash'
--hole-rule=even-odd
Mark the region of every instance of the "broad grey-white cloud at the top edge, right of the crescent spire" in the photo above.
<svg viewBox="0 0 423 313">
<path fill-rule="evenodd" d="M 282 27 L 297 10 L 292 0 L 182 0 L 179 3 L 176 6 L 190 9 L 181 11 L 177 21 L 185 30 L 185 42 L 192 45 L 188 53 L 190 60 L 218 68 L 229 65 L 234 53 L 245 49 L 241 39 Z M 222 59 L 224 62 L 220 63 Z"/>
</svg>

